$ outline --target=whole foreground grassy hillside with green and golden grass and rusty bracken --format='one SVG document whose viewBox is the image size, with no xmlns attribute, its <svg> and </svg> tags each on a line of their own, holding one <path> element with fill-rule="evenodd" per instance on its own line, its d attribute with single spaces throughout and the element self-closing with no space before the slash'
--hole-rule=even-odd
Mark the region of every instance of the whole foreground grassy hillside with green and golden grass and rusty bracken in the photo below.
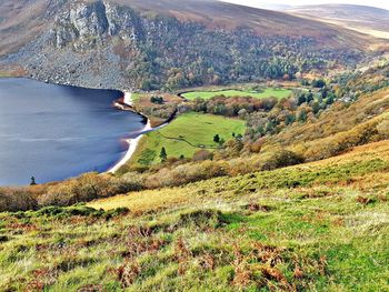
<svg viewBox="0 0 389 292">
<path fill-rule="evenodd" d="M 2 213 L 0 290 L 385 291 L 388 153 Z"/>
</svg>

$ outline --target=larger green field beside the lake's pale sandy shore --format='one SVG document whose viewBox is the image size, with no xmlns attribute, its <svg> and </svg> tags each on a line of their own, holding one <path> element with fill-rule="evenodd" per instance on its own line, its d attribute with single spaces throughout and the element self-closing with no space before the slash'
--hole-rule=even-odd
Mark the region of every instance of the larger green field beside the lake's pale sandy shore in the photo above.
<svg viewBox="0 0 389 292">
<path fill-rule="evenodd" d="M 166 148 L 168 158 L 184 155 L 191 158 L 200 149 L 212 150 L 218 147 L 213 137 L 219 134 L 226 141 L 232 133 L 245 133 L 245 121 L 212 114 L 186 113 L 168 127 L 144 135 L 132 161 L 140 164 L 159 162 L 159 153 Z"/>
</svg>

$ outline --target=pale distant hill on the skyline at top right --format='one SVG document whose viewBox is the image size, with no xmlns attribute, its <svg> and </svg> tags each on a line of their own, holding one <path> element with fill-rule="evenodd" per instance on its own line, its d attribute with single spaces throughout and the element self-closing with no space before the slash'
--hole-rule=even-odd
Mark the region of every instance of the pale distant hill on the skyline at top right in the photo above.
<svg viewBox="0 0 389 292">
<path fill-rule="evenodd" d="M 295 7 L 287 11 L 295 16 L 322 20 L 377 38 L 389 39 L 389 11 L 385 9 L 367 6 L 326 4 Z"/>
</svg>

